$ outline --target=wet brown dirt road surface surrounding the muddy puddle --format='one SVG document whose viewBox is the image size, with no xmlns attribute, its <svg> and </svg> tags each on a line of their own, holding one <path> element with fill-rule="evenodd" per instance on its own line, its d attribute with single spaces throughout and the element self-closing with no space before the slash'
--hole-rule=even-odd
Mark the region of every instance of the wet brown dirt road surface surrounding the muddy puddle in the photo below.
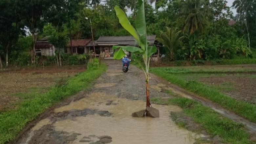
<svg viewBox="0 0 256 144">
<path fill-rule="evenodd" d="M 81 135 L 77 132 L 66 132 L 66 131 L 56 131 L 54 129 L 54 124 L 65 119 L 73 119 L 75 117 L 89 116 L 97 114 L 101 117 L 113 116 L 109 111 L 102 111 L 97 109 L 79 109 L 79 110 L 69 110 L 63 112 L 55 112 L 55 108 L 60 108 L 66 106 L 71 102 L 78 101 L 82 98 L 86 98 L 88 93 L 106 93 L 106 95 L 115 95 L 118 98 L 125 98 L 128 100 L 145 100 L 145 76 L 144 73 L 131 65 L 129 67 L 129 72 L 124 74 L 121 72 L 121 62 L 117 60 L 104 60 L 108 65 L 108 70 L 106 73 L 102 74 L 97 80 L 95 89 L 89 92 L 83 92 L 76 94 L 75 96 L 59 103 L 58 105 L 52 107 L 49 111 L 43 113 L 38 119 L 34 120 L 32 123 L 24 129 L 24 131 L 18 136 L 18 138 L 13 141 L 17 144 L 66 144 L 73 143 L 78 137 L 82 136 L 82 139 L 79 139 L 80 143 L 89 143 L 89 144 L 104 144 L 111 143 L 111 135 Z M 163 85 L 161 85 L 163 83 Z M 173 96 L 164 93 L 166 87 L 172 87 L 173 85 L 167 86 L 169 83 L 160 79 L 157 76 L 152 75 L 150 78 L 150 97 L 154 98 L 172 98 Z M 102 86 L 104 85 L 104 86 Z M 109 85 L 109 86 L 108 86 Z M 175 88 L 177 90 L 177 88 Z M 178 90 L 180 91 L 180 90 Z M 182 90 L 183 93 L 186 93 Z M 181 92 L 182 92 L 181 91 Z M 186 93 L 190 95 L 189 93 Z M 192 95 L 193 97 L 194 95 Z M 207 105 L 207 100 L 201 100 Z M 210 103 L 210 102 L 208 102 Z M 102 104 L 102 103 L 99 103 Z M 109 99 L 104 105 L 119 105 L 118 101 L 113 101 Z M 216 106 L 217 107 L 217 106 Z M 171 112 L 170 112 L 171 115 Z M 233 116 L 236 116 L 233 114 Z M 31 128 L 36 125 L 41 119 L 49 119 L 50 123 L 42 126 L 41 128 L 31 131 Z M 182 119 L 182 118 L 181 118 Z M 198 129 L 199 124 L 195 124 L 191 119 L 186 120 L 186 123 L 190 123 L 189 129 Z M 68 125 L 68 123 L 67 123 Z M 88 125 L 90 125 L 88 123 Z M 122 128 L 120 128 L 122 129 Z M 203 134 L 206 134 L 202 131 Z M 207 137 L 207 136 L 206 136 Z M 218 137 L 218 135 L 216 136 Z M 211 139 L 207 137 L 207 140 L 213 140 L 214 143 L 220 143 L 221 138 Z"/>
</svg>

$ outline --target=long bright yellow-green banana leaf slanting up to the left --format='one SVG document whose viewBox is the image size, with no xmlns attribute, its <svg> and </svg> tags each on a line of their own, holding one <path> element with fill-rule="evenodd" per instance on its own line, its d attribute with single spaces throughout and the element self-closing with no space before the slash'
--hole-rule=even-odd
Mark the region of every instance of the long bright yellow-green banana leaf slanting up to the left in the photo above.
<svg viewBox="0 0 256 144">
<path fill-rule="evenodd" d="M 115 6 L 114 8 L 116 10 L 117 17 L 119 19 L 119 23 L 122 25 L 122 27 L 131 33 L 131 35 L 139 41 L 139 35 L 138 32 L 134 29 L 134 27 L 129 22 L 128 18 L 126 17 L 123 10 L 121 10 L 118 6 Z"/>
</svg>

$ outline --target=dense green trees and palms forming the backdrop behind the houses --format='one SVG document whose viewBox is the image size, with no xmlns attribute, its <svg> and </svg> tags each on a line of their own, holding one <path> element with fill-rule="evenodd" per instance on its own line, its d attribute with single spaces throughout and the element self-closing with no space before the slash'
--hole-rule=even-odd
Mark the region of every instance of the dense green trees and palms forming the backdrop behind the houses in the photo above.
<svg viewBox="0 0 256 144">
<path fill-rule="evenodd" d="M 115 6 L 126 11 L 135 27 L 137 0 L 1 0 L 1 69 L 83 62 L 72 51 L 65 53 L 70 40 L 130 35 L 119 24 Z M 147 35 L 157 36 L 155 44 L 165 55 L 164 63 L 255 63 L 256 0 L 234 0 L 232 4 L 226 0 L 145 0 L 144 8 Z M 37 57 L 36 41 L 45 36 L 55 46 L 55 56 L 42 52 Z M 99 47 L 95 49 L 99 54 Z"/>
</svg>

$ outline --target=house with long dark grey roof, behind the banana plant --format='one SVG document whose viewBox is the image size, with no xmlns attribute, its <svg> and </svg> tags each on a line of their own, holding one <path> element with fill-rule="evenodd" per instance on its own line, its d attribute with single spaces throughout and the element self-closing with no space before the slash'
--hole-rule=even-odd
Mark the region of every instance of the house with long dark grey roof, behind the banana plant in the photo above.
<svg viewBox="0 0 256 144">
<path fill-rule="evenodd" d="M 149 45 L 155 44 L 156 35 L 148 35 L 147 40 Z M 100 49 L 100 56 L 104 58 L 112 58 L 116 50 L 113 50 L 113 46 L 135 46 L 138 47 L 138 44 L 135 42 L 133 36 L 100 36 L 96 41 L 96 45 Z M 159 48 L 158 48 L 159 51 Z M 97 53 L 97 52 L 96 52 Z M 128 51 L 125 51 L 126 54 L 130 55 Z"/>
</svg>

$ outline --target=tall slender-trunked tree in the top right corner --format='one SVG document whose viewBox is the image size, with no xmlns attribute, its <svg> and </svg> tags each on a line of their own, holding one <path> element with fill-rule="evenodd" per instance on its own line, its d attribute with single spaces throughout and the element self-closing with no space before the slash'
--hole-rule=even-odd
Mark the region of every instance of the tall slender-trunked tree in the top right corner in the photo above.
<svg viewBox="0 0 256 144">
<path fill-rule="evenodd" d="M 239 20 L 244 23 L 247 38 L 248 38 L 248 46 L 250 48 L 250 19 L 255 19 L 253 14 L 256 11 L 255 7 L 256 0 L 235 0 L 233 2 L 232 7 L 236 8 L 237 13 L 239 13 Z"/>
</svg>

